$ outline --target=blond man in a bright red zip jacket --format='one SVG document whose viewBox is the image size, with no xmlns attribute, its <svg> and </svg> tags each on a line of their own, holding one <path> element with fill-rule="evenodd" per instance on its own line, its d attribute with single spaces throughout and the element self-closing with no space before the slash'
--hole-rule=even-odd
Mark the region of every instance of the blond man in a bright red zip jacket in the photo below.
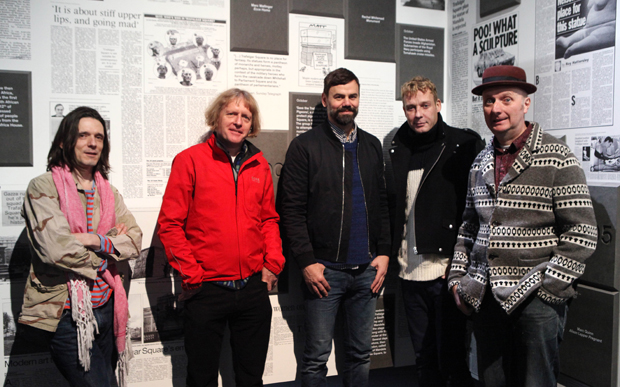
<svg viewBox="0 0 620 387">
<path fill-rule="evenodd" d="M 230 328 L 237 386 L 262 386 L 269 345 L 268 291 L 284 266 L 267 161 L 246 141 L 258 105 L 239 89 L 205 112 L 205 141 L 179 153 L 159 214 L 159 237 L 183 279 L 187 386 L 217 386 Z"/>
</svg>

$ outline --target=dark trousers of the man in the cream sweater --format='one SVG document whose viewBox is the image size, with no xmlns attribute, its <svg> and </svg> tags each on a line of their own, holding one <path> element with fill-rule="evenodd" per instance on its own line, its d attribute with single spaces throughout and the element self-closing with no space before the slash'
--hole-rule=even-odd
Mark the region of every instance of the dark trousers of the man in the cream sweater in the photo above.
<svg viewBox="0 0 620 387">
<path fill-rule="evenodd" d="M 467 366 L 467 318 L 445 279 L 407 281 L 401 289 L 421 387 L 473 386 Z"/>
</svg>

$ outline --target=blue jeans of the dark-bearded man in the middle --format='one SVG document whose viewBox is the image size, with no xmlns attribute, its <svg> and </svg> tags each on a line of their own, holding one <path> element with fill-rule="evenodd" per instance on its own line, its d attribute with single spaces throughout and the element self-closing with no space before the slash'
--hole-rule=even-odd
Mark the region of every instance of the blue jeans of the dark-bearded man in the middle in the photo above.
<svg viewBox="0 0 620 387">
<path fill-rule="evenodd" d="M 306 295 L 306 345 L 301 367 L 304 387 L 327 386 L 327 360 L 332 350 L 334 325 L 342 305 L 344 319 L 345 386 L 368 385 L 372 327 L 376 299 L 370 290 L 377 269 L 367 265 L 357 270 L 325 268 L 323 275 L 331 290 L 327 297 L 318 298 L 309 291 Z"/>
</svg>

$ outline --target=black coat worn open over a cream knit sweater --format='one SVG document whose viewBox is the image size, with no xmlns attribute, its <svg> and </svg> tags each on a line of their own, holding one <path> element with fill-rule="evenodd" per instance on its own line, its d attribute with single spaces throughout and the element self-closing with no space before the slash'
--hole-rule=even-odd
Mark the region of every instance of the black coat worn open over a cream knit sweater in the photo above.
<svg viewBox="0 0 620 387">
<path fill-rule="evenodd" d="M 447 125 L 438 115 L 437 137 L 428 151 L 412 211 L 418 254 L 452 255 L 465 209 L 469 168 L 484 148 L 484 141 L 471 129 Z M 412 129 L 405 122 L 389 148 L 395 191 L 390 192 L 393 257 L 398 256 L 406 222 L 407 175 L 413 141 Z"/>
</svg>

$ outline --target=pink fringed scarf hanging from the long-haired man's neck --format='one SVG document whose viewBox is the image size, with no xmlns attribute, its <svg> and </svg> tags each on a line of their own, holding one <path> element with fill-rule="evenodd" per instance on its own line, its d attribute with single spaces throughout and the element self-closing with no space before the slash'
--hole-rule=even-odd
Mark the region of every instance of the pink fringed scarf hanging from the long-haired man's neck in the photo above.
<svg viewBox="0 0 620 387">
<path fill-rule="evenodd" d="M 60 210 L 69 222 L 71 232 L 87 232 L 86 213 L 75 188 L 75 181 L 71 171 L 67 166 L 64 168 L 54 167 L 52 168 L 52 178 L 58 190 Z M 95 184 L 100 198 L 100 220 L 97 226 L 97 233 L 105 235 L 116 225 L 114 193 L 110 188 L 110 183 L 99 172 L 95 172 Z M 131 340 L 127 337 L 127 321 L 129 319 L 127 294 L 116 266 L 111 260 L 108 261 L 108 269 L 101 274 L 101 278 L 114 291 L 114 337 L 116 338 L 116 349 L 119 354 L 117 364 L 118 382 L 120 386 L 125 386 L 129 372 L 129 360 L 133 357 L 130 348 Z M 71 298 L 71 317 L 77 325 L 80 364 L 84 367 L 84 370 L 88 371 L 90 370 L 90 350 L 93 346 L 95 330 L 99 333 L 97 321 L 92 311 L 91 295 L 86 280 L 77 274 L 70 275 L 67 286 L 69 287 L 69 297 Z"/>
</svg>

